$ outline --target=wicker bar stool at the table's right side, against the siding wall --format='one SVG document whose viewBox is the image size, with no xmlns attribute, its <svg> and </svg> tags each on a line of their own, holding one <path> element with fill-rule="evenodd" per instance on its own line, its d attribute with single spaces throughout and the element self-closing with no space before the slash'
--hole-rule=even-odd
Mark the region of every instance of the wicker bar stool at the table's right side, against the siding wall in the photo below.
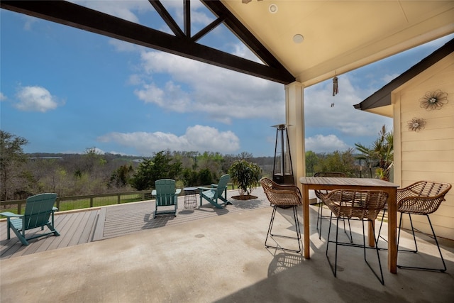
<svg viewBox="0 0 454 303">
<path fill-rule="evenodd" d="M 441 262 L 443 263 L 443 268 L 421 268 L 415 266 L 405 266 L 397 265 L 398 268 L 408 268 L 415 270 L 435 270 L 445 272 L 446 264 L 443 260 L 443 255 L 441 254 L 440 246 L 438 245 L 437 237 L 435 231 L 433 230 L 431 219 L 429 214 L 432 214 L 438 209 L 441 202 L 445 201 L 445 195 L 449 192 L 452 185 L 449 183 L 438 183 L 438 182 L 429 182 L 429 181 L 419 181 L 414 184 L 404 187 L 402 189 L 397 189 L 397 211 L 401 213 L 399 221 L 399 235 L 397 236 L 397 251 L 399 252 L 418 252 L 418 245 L 416 244 L 416 236 L 414 234 L 413 221 L 411 221 L 411 215 L 422 215 L 426 216 L 428 224 L 431 226 L 433 240 L 435 240 L 436 246 L 438 248 L 438 253 L 440 253 Z M 400 231 L 402 226 L 402 216 L 403 214 L 408 214 L 410 218 L 411 233 L 413 233 L 413 240 L 415 250 L 399 250 L 399 239 Z M 416 229 L 416 231 L 419 231 Z M 432 238 L 431 235 L 426 235 Z"/>
</svg>

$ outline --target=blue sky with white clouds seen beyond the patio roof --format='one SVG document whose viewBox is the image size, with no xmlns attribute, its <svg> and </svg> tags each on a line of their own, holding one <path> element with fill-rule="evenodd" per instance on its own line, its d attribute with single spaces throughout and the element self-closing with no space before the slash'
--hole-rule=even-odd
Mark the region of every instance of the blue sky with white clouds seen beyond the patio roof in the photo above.
<svg viewBox="0 0 454 303">
<path fill-rule="evenodd" d="M 74 2 L 169 32 L 148 1 Z M 177 20 L 180 2 L 165 3 Z M 198 1 L 192 9 L 193 32 L 213 20 Z M 270 126 L 285 121 L 283 84 L 3 9 L 0 19 L 0 126 L 29 141 L 26 153 L 274 153 Z M 450 38 L 338 76 L 336 97 L 331 80 L 306 88 L 306 150 L 370 145 L 392 121 L 353 104 Z M 254 60 L 223 27 L 200 43 Z"/>
</svg>

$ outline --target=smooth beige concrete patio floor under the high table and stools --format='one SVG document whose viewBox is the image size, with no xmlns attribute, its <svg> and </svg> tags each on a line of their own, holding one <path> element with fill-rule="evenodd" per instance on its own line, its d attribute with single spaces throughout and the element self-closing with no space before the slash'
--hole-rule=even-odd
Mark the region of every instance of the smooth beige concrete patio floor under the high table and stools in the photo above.
<svg viewBox="0 0 454 303">
<path fill-rule="evenodd" d="M 253 194 L 266 199 L 261 188 Z M 310 260 L 265 248 L 271 212 L 270 207 L 245 209 L 1 260 L 0 301 L 454 302 L 454 241 L 439 239 L 445 273 L 398 269 L 393 275 L 387 271 L 387 251 L 381 250 L 381 285 L 360 248 L 339 248 L 333 277 L 325 256 L 328 222 L 319 240 L 316 206 L 310 214 Z M 301 207 L 298 214 L 302 226 Z M 275 232 L 294 231 L 291 215 L 291 209 L 278 209 Z M 360 243 L 360 224 L 352 227 Z M 411 248 L 409 233 L 402 233 L 401 247 Z M 399 253 L 398 264 L 441 264 L 433 241 L 419 236 L 420 252 Z M 296 241 L 277 241 L 297 247 Z M 367 250 L 367 260 L 378 270 L 375 250 Z"/>
</svg>

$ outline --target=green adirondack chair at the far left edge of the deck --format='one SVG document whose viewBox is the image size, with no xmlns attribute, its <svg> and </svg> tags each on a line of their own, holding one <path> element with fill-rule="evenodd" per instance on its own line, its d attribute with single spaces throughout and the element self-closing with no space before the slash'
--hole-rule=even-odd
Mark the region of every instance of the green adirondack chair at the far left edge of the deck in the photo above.
<svg viewBox="0 0 454 303">
<path fill-rule="evenodd" d="M 36 194 L 27 198 L 25 214 L 13 214 L 9 211 L 0 213 L 1 216 L 7 218 L 8 238 L 10 238 L 10 228 L 23 245 L 28 245 L 28 240 L 48 236 L 51 233 L 54 236 L 60 236 L 54 226 L 54 212 L 58 210 L 57 207 L 54 207 L 56 199 L 57 194 Z M 51 221 L 49 221 L 50 217 L 52 217 Z M 44 226 L 48 226 L 50 232 L 26 237 L 26 231 L 38 227 L 43 231 Z"/>
</svg>

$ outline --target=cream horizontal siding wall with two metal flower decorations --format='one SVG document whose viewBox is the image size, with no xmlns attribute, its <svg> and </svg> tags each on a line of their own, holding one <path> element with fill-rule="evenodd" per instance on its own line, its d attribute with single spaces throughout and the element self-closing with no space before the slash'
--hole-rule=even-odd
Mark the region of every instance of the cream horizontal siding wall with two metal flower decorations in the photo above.
<svg viewBox="0 0 454 303">
<path fill-rule="evenodd" d="M 421 108 L 420 99 L 426 92 L 437 89 L 448 93 L 448 104 L 433 111 Z M 419 180 L 454 185 L 454 55 L 416 76 L 394 93 L 394 97 L 394 102 L 399 103 L 395 108 L 400 109 L 395 115 L 399 115 L 397 121 L 400 121 L 396 152 L 402 160 L 399 165 L 402 187 Z M 425 128 L 409 131 L 407 122 L 414 118 L 424 119 Z M 454 239 L 454 189 L 445 198 L 430 217 L 437 236 Z M 431 233 L 426 216 L 412 216 L 412 219 L 416 228 Z M 408 216 L 403 220 L 404 227 L 409 228 Z"/>
</svg>

